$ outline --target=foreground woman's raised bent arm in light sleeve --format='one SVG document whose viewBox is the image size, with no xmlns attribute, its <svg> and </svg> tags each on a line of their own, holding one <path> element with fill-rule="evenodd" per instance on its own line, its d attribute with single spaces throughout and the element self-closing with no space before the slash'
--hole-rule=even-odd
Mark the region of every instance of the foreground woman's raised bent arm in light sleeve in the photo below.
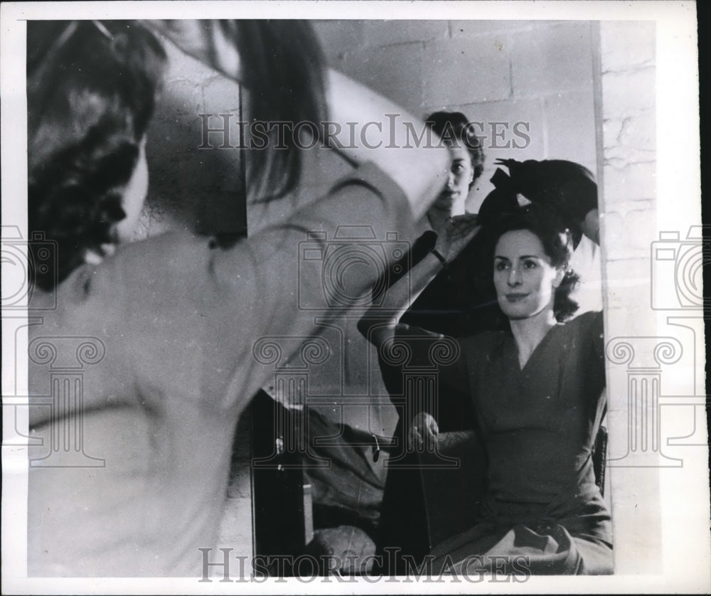
<svg viewBox="0 0 711 596">
<path fill-rule="evenodd" d="M 225 33 L 238 30 L 223 26 L 224 23 L 206 23 L 161 21 L 151 27 L 187 53 L 240 80 L 245 70 L 240 64 L 244 54 L 235 49 L 235 39 Z M 329 131 L 335 135 L 332 146 L 352 164 L 370 163 L 336 183 L 319 200 L 308 204 L 284 201 L 287 213 L 279 223 L 262 228 L 234 246 L 207 250 L 199 247 L 200 240 L 196 240 L 197 248 L 192 240 L 186 240 L 186 255 L 196 254 L 193 269 L 201 271 L 201 276 L 186 280 L 179 272 L 166 272 L 166 283 L 178 286 L 169 294 L 184 298 L 188 305 L 201 304 L 199 335 L 193 334 L 191 339 L 201 346 L 196 358 L 205 363 L 205 394 L 231 395 L 232 384 L 236 388 L 241 383 L 236 397 L 247 398 L 273 374 L 273 366 L 262 366 L 257 357 L 263 340 L 273 338 L 285 352 L 293 353 L 299 342 L 314 336 L 324 319 L 343 314 L 348 301 L 341 301 L 338 287 L 333 292 L 333 286 L 343 280 L 326 278 L 331 273 L 328 265 L 336 262 L 333 255 L 345 245 L 341 242 L 343 236 L 338 235 L 343 228 L 370 230 L 373 240 L 355 240 L 355 249 L 363 243 L 376 247 L 385 243 L 387 248 L 392 233 L 397 233 L 399 243 L 411 240 L 413 215 L 423 215 L 444 185 L 449 164 L 447 149 L 398 147 L 405 144 L 402 120 L 407 119 L 416 129 L 424 127 L 423 122 L 333 71 L 327 73 L 325 83 L 329 122 L 341 125 L 340 132 L 338 126 Z M 400 127 L 397 122 L 392 124 L 395 114 L 399 115 Z M 355 132 L 349 123 L 355 123 Z M 363 132 L 366 124 L 368 130 Z M 395 142 L 388 128 L 393 125 Z M 378 134 L 373 135 L 374 132 Z M 383 256 L 386 262 L 396 260 L 392 251 L 385 250 Z M 351 271 L 359 272 L 346 280 L 348 296 L 368 293 L 378 273 L 363 272 L 358 267 L 345 270 L 346 277 Z M 171 308 L 186 309 L 182 303 L 174 303 L 175 299 Z M 189 310 L 196 311 L 194 307 Z M 183 329 L 188 328 L 183 324 Z M 288 358 L 289 353 L 283 356 Z M 242 381 L 237 383 L 236 379 Z"/>
</svg>

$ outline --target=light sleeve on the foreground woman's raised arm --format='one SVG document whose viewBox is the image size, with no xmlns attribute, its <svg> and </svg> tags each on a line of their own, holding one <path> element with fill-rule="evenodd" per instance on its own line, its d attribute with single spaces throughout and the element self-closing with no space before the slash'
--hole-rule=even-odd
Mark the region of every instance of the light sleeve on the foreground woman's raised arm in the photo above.
<svg viewBox="0 0 711 596">
<path fill-rule="evenodd" d="M 226 406 L 249 398 L 294 353 L 306 360 L 337 353 L 314 339 L 316 330 L 370 298 L 413 230 L 400 186 L 365 164 L 326 196 L 229 248 L 187 234 L 136 243 L 120 257 L 136 305 L 126 316 L 142 351 L 161 354 L 137 366 L 149 377 L 177 377 L 187 367 L 193 390 Z M 311 351 L 301 349 L 309 340 Z"/>
</svg>

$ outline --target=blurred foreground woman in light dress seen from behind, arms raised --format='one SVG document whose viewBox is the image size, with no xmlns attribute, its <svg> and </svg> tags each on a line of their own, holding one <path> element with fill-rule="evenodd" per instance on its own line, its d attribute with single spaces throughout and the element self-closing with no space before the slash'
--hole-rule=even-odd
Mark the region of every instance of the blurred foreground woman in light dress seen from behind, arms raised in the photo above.
<svg viewBox="0 0 711 596">
<path fill-rule="evenodd" d="M 348 161 L 378 166 L 292 204 L 282 223 L 230 245 L 189 233 L 124 244 L 147 191 L 145 134 L 165 61 L 158 35 L 243 80 L 250 114 L 266 119 L 291 110 L 294 122 L 322 122 L 328 107 L 348 130 L 400 109 L 324 72 L 311 29 L 297 21 L 27 29 L 29 229 L 58 247 L 37 270 L 30 304 L 43 319 L 28 331 L 28 573 L 200 577 L 200 549 L 217 541 L 235 423 L 273 373 L 255 342 L 309 337 L 317 316 L 336 315 L 324 305 L 294 316 L 297 290 L 322 296 L 320 277 L 299 278 L 299 243 L 309 230 L 333 238 L 342 224 L 411 238 L 412 216 L 444 184 L 447 151 L 404 155 L 344 138 Z M 294 151 L 263 151 L 260 196 L 293 190 Z M 80 390 L 55 383 L 53 358 L 82 363 Z"/>
</svg>

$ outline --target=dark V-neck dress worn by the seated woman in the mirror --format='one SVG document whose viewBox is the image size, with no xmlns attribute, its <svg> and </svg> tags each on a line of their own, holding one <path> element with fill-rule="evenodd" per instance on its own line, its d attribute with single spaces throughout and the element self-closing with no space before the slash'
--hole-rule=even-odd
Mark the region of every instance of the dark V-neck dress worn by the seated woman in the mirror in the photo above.
<svg viewBox="0 0 711 596">
<path fill-rule="evenodd" d="M 397 329 L 403 339 L 423 333 Z M 459 344 L 459 359 L 440 373 L 474 398 L 487 490 L 481 521 L 434 548 L 435 570 L 612 573 L 609 511 L 592 467 L 604 410 L 602 314 L 550 329 L 523 369 L 506 332 Z"/>
</svg>

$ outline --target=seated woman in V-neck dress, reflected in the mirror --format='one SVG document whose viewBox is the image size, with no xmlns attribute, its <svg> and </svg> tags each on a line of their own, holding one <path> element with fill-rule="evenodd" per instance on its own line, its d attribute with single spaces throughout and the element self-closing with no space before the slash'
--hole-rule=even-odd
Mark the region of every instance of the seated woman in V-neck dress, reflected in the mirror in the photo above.
<svg viewBox="0 0 711 596">
<path fill-rule="evenodd" d="M 479 522 L 434 548 L 434 570 L 612 573 L 610 516 L 592 467 L 604 409 L 602 313 L 567 321 L 577 309 L 569 296 L 577 282 L 568 268 L 569 226 L 550 203 L 518 206 L 511 198 L 510 208 L 488 218 L 479 232 L 493 247 L 493 284 L 510 332 L 461 339 L 456 361 L 439 368 L 444 385 L 464 388 L 474 400 L 488 469 Z M 581 229 L 597 238 L 594 213 L 586 220 Z M 479 229 L 455 218 L 437 250 L 449 260 Z M 419 287 L 441 266 L 437 257 L 423 260 Z M 389 350 L 404 341 L 410 364 L 434 364 L 432 342 L 423 347 L 422 339 L 441 336 L 397 324 L 395 317 L 383 324 L 375 314 L 360 321 L 373 344 Z M 431 448 L 436 422 L 419 415 L 413 435 Z"/>
</svg>

